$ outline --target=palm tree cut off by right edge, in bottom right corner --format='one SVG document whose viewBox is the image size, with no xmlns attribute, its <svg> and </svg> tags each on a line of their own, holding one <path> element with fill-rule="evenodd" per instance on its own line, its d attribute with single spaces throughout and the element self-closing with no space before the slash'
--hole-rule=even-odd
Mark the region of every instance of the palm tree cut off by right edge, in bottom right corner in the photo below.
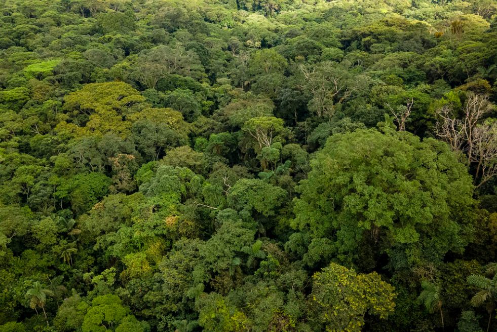
<svg viewBox="0 0 497 332">
<path fill-rule="evenodd" d="M 487 332 L 490 329 L 492 312 L 495 308 L 493 300 L 497 296 L 497 273 L 495 273 L 496 268 L 497 264 L 495 263 L 487 265 L 486 274 L 490 277 L 493 276 L 492 279 L 476 274 L 472 274 L 468 277 L 468 283 L 480 289 L 471 299 L 471 305 L 474 307 L 480 307 L 485 302 L 487 304 L 487 312 L 489 314 Z"/>
</svg>

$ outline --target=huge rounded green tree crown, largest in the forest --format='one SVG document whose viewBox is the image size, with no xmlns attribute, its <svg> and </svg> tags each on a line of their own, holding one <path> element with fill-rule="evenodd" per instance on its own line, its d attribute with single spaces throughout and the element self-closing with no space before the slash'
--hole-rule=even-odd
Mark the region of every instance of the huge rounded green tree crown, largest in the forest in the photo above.
<svg viewBox="0 0 497 332">
<path fill-rule="evenodd" d="M 474 202 L 471 177 L 443 142 L 359 129 L 331 136 L 311 166 L 293 226 L 333 239 L 339 253 L 356 252 L 369 237 L 397 259 L 413 262 L 427 250 L 441 261 L 469 240 L 462 215 Z"/>
</svg>

